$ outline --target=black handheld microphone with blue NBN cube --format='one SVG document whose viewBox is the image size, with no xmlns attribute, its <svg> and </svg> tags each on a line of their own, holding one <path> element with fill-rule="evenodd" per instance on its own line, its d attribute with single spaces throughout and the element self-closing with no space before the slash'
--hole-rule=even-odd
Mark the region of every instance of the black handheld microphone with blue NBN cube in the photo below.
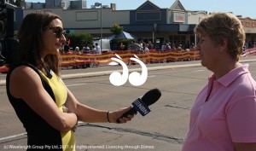
<svg viewBox="0 0 256 151">
<path fill-rule="evenodd" d="M 120 118 L 127 117 L 128 115 L 133 115 L 137 113 L 141 113 L 143 116 L 150 112 L 148 106 L 154 104 L 154 102 L 158 101 L 161 96 L 161 92 L 159 89 L 155 88 L 153 90 L 148 90 L 148 92 L 142 97 L 138 98 L 135 102 L 131 104 L 133 107 L 128 112 L 124 113 Z M 117 123 L 120 123 L 120 120 L 117 119 Z"/>
</svg>

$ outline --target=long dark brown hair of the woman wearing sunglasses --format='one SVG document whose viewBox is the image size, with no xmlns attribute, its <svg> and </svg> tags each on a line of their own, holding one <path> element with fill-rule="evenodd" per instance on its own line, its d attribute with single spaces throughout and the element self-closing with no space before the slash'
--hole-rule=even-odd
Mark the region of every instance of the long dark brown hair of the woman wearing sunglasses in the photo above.
<svg viewBox="0 0 256 151">
<path fill-rule="evenodd" d="M 44 11 L 32 12 L 26 15 L 18 32 L 19 61 L 26 61 L 43 72 L 44 67 L 49 67 L 59 75 L 59 55 L 46 55 L 42 61 L 43 29 L 55 19 L 61 20 L 61 17 Z"/>
</svg>

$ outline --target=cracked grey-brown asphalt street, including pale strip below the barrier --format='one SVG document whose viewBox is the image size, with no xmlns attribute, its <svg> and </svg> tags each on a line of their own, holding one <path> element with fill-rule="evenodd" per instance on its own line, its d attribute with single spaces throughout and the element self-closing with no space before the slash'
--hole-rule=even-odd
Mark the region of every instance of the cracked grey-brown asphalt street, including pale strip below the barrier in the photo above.
<svg viewBox="0 0 256 151">
<path fill-rule="evenodd" d="M 256 78 L 256 56 L 242 58 Z M 189 131 L 189 112 L 199 90 L 212 73 L 200 61 L 147 64 L 148 79 L 141 86 L 113 86 L 109 74 L 122 67 L 63 68 L 62 78 L 79 102 L 90 107 L 115 110 L 128 107 L 148 90 L 158 88 L 162 96 L 150 106 L 151 113 L 137 116 L 124 125 L 79 122 L 76 150 L 145 150 L 179 151 Z M 130 73 L 141 67 L 128 66 Z M 254 76 L 255 75 L 255 76 Z M 26 131 L 9 104 L 5 74 L 0 74 L 0 150 L 26 150 Z M 38 130 L 40 131 L 40 130 Z"/>
</svg>

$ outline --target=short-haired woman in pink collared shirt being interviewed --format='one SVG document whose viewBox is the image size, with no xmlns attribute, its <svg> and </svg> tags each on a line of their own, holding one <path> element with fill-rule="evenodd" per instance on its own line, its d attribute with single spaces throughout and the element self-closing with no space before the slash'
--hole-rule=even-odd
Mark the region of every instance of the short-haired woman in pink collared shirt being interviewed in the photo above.
<svg viewBox="0 0 256 151">
<path fill-rule="evenodd" d="M 256 83 L 239 62 L 246 38 L 241 21 L 213 13 L 195 34 L 201 65 L 213 74 L 191 109 L 183 151 L 255 151 Z"/>
</svg>

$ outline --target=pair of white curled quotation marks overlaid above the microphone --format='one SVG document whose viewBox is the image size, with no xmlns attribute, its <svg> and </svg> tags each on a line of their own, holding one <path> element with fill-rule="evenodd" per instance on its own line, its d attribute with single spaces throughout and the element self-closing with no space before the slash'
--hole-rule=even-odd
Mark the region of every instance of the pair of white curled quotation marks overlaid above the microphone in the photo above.
<svg viewBox="0 0 256 151">
<path fill-rule="evenodd" d="M 117 54 L 115 55 L 117 58 L 112 57 L 111 58 L 112 62 L 110 62 L 108 65 L 115 66 L 120 64 L 123 67 L 123 73 L 119 73 L 119 72 L 111 73 L 109 76 L 109 81 L 111 84 L 115 86 L 120 86 L 125 84 L 127 79 L 129 79 L 130 84 L 134 86 L 140 86 L 146 82 L 148 78 L 148 69 L 146 65 L 143 63 L 143 61 L 139 60 L 137 55 L 134 55 L 135 58 L 131 57 L 130 60 L 136 61 L 139 65 L 141 65 L 142 73 L 140 74 L 137 72 L 133 72 L 133 73 L 130 73 L 130 75 L 129 75 L 128 67 L 126 66 L 125 62 L 121 61 L 122 58 L 119 55 Z"/>
</svg>

